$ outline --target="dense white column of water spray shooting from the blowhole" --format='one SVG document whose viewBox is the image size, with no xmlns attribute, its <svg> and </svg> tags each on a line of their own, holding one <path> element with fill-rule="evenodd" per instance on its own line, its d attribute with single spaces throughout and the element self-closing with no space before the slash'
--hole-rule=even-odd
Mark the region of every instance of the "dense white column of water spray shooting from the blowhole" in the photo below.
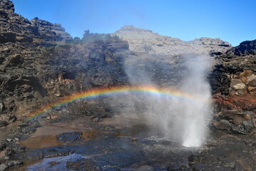
<svg viewBox="0 0 256 171">
<path fill-rule="evenodd" d="M 183 145 L 185 147 L 198 147 L 205 142 L 208 118 L 210 116 L 210 85 L 206 79 L 209 67 L 207 56 L 188 56 L 186 66 L 189 75 L 183 80 L 181 90 L 189 92 L 203 103 L 184 102 L 185 129 Z"/>
</svg>

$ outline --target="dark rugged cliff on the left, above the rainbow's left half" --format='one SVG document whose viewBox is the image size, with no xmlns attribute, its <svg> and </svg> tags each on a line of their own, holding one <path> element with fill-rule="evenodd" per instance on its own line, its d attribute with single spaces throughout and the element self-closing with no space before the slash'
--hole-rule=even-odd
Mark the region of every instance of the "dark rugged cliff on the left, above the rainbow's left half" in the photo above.
<svg viewBox="0 0 256 171">
<path fill-rule="evenodd" d="M 59 24 L 14 13 L 0 1 L 0 120 L 8 124 L 33 108 L 93 86 L 126 83 L 121 39 L 75 43 Z M 101 38 L 101 35 L 98 35 Z M 3 124 L 2 124 L 3 125 Z"/>
</svg>

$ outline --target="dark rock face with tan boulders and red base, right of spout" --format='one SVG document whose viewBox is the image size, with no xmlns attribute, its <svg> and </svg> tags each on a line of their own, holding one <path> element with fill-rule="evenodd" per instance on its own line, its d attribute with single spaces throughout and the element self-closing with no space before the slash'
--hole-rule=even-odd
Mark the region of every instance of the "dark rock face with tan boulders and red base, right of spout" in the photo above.
<svg viewBox="0 0 256 171">
<path fill-rule="evenodd" d="M 256 111 L 254 44 L 255 41 L 245 41 L 226 53 L 213 54 L 218 65 L 214 66 L 213 77 L 209 80 L 215 100 L 222 110 Z"/>
</svg>

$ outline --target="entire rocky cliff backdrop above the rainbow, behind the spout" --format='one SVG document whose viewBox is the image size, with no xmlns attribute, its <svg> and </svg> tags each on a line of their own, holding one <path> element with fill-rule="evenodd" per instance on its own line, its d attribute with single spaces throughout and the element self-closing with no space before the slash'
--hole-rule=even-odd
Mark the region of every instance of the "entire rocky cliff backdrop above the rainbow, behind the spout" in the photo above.
<svg viewBox="0 0 256 171">
<path fill-rule="evenodd" d="M 237 47 L 218 38 L 181 41 L 133 26 L 112 35 L 86 31 L 82 39 L 73 39 L 59 24 L 38 18 L 29 21 L 14 13 L 8 0 L 0 1 L 0 16 L 0 120 L 4 122 L 89 88 L 128 85 L 130 75 L 143 81 L 139 75 L 146 73 L 157 86 L 179 87 L 181 78 L 189 77 L 185 56 L 202 54 L 212 61 L 208 80 L 215 112 L 243 110 L 255 117 L 256 41 Z"/>
</svg>

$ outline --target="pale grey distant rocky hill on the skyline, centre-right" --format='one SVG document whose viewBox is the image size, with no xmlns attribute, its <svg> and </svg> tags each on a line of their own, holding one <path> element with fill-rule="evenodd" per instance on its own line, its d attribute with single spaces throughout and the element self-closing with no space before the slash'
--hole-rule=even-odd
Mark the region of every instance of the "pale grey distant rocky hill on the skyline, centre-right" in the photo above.
<svg viewBox="0 0 256 171">
<path fill-rule="evenodd" d="M 161 36 L 153 31 L 134 26 L 124 26 L 114 35 L 128 41 L 130 51 L 147 52 L 156 55 L 180 55 L 184 53 L 225 52 L 232 46 L 220 38 L 199 38 L 182 41 L 179 38 Z"/>
</svg>

